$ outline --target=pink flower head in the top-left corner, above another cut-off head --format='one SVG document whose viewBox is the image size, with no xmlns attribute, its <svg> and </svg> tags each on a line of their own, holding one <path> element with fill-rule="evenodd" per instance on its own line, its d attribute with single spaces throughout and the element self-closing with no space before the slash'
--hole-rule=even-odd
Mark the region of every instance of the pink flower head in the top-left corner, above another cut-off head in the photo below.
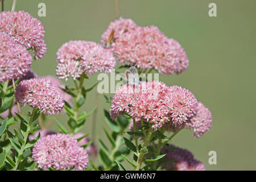
<svg viewBox="0 0 256 182">
<path fill-rule="evenodd" d="M 44 27 L 42 23 L 25 11 L 3 11 L 0 13 L 0 32 L 6 32 L 16 43 L 32 49 L 35 59 L 46 54 Z"/>
</svg>

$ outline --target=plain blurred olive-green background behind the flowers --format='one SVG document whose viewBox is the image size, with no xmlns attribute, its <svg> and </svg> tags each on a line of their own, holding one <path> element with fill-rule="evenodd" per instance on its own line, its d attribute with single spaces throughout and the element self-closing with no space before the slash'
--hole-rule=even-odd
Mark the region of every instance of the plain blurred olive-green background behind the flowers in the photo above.
<svg viewBox="0 0 256 182">
<path fill-rule="evenodd" d="M 46 17 L 38 16 L 40 2 L 46 3 Z M 217 17 L 208 16 L 210 2 L 217 4 Z M 5 0 L 5 10 L 11 4 Z M 191 90 L 212 111 L 213 126 L 207 134 L 197 139 L 191 137 L 192 131 L 184 130 L 173 143 L 192 151 L 208 170 L 255 170 L 256 1 L 118 0 L 118 5 L 120 16 L 139 26 L 158 26 L 180 42 L 190 61 L 187 71 L 178 76 L 160 75 L 159 80 Z M 100 42 L 115 18 L 114 0 L 18 0 L 16 10 L 27 11 L 45 27 L 46 56 L 32 64 L 39 76 L 55 76 L 56 52 L 63 43 L 79 39 Z M 90 76 L 85 86 L 96 81 L 97 75 Z M 86 111 L 92 109 L 95 94 L 96 89 L 88 94 Z M 105 138 L 101 128 L 104 108 L 109 110 L 109 105 L 100 95 L 97 137 L 101 138 Z M 65 117 L 59 119 L 67 122 Z M 57 130 L 56 124 L 53 129 Z M 82 130 L 90 133 L 91 129 L 92 116 Z M 208 164 L 212 150 L 217 152 L 217 165 Z"/>
</svg>

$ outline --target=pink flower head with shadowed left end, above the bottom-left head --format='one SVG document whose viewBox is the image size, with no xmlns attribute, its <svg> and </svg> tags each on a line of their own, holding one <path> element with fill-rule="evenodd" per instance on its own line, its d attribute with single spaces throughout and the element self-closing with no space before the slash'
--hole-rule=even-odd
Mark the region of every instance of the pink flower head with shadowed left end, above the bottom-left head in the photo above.
<svg viewBox="0 0 256 182">
<path fill-rule="evenodd" d="M 38 107 L 42 113 L 59 113 L 64 107 L 63 95 L 53 82 L 44 78 L 32 78 L 19 82 L 15 89 L 15 98 L 20 105 Z"/>
</svg>

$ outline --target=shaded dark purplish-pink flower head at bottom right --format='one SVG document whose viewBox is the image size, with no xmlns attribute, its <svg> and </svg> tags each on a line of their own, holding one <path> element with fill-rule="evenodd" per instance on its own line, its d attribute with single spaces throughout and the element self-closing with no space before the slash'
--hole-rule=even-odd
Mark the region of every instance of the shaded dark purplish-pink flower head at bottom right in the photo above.
<svg viewBox="0 0 256 182">
<path fill-rule="evenodd" d="M 162 164 L 161 168 L 171 171 L 205 171 L 204 164 L 196 160 L 188 150 L 175 147 L 172 144 L 162 147 L 163 160 L 171 160 Z"/>
</svg>

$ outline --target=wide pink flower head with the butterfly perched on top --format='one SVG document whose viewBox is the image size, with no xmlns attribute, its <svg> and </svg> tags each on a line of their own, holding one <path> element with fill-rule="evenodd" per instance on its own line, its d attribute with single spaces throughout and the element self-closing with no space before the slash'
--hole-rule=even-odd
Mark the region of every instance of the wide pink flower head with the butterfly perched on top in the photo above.
<svg viewBox="0 0 256 182">
<path fill-rule="evenodd" d="M 196 115 L 197 110 L 196 98 L 187 89 L 151 81 L 120 86 L 114 94 L 110 116 L 115 119 L 126 113 L 135 121 L 146 119 L 154 123 L 152 129 L 156 130 L 164 124 L 183 125 Z"/>
</svg>

